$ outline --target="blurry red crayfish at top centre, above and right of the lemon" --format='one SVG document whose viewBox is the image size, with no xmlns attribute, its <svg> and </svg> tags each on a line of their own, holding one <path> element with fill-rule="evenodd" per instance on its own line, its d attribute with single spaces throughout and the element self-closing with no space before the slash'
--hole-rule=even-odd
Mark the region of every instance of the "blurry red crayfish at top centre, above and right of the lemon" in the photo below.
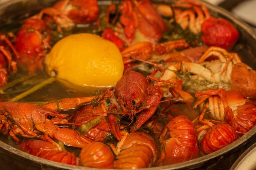
<svg viewBox="0 0 256 170">
<path fill-rule="evenodd" d="M 113 42 L 120 39 L 120 47 L 133 43 L 137 32 L 150 42 L 157 42 L 162 37 L 162 31 L 167 28 L 149 0 L 125 0 L 120 3 L 119 10 L 120 23 L 116 24 L 114 31 L 104 31 L 102 37 Z"/>
</svg>

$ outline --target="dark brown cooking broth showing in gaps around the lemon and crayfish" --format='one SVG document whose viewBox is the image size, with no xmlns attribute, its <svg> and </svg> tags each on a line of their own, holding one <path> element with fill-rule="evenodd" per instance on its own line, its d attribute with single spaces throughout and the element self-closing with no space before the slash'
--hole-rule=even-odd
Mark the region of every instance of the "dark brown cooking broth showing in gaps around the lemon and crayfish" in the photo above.
<svg viewBox="0 0 256 170">
<path fill-rule="evenodd" d="M 77 25 L 72 29 L 62 29 L 63 34 L 60 34 L 56 30 L 56 25 L 52 25 L 52 40 L 50 42 L 50 45 L 53 46 L 58 40 L 61 40 L 62 38 L 71 35 L 71 34 L 79 34 L 79 33 L 93 33 L 93 34 L 99 34 L 101 35 L 103 28 L 105 27 L 105 17 L 106 17 L 106 9 L 108 8 L 109 2 L 108 1 L 99 1 L 99 8 L 100 8 L 100 14 L 99 18 L 101 20 L 101 26 L 97 27 L 96 23 L 93 24 L 86 24 L 86 25 Z M 33 8 L 32 11 L 29 12 L 29 14 L 32 16 L 32 14 L 38 13 L 38 11 L 43 8 L 42 6 L 36 6 Z M 0 32 L 3 32 L 4 34 L 7 34 L 8 32 L 13 32 L 14 34 L 17 33 L 18 29 L 23 23 L 23 20 L 28 17 L 28 13 L 20 15 L 18 18 L 15 18 L 15 22 L 6 22 L 2 23 L 0 26 Z M 162 39 L 159 40 L 159 42 L 165 42 L 167 40 L 178 40 L 178 39 L 199 39 L 198 35 L 193 35 L 189 31 L 185 30 L 183 31 L 181 28 L 175 28 L 174 26 L 170 26 L 170 28 L 164 33 L 164 36 Z M 249 65 L 252 68 L 256 68 L 256 57 L 254 57 L 253 53 L 250 49 L 248 49 L 248 46 L 246 45 L 247 42 L 243 39 L 240 39 L 237 45 L 233 48 L 234 52 L 238 53 L 241 57 L 242 61 Z M 246 57 L 244 57 L 246 56 Z M 146 65 L 148 66 L 148 65 Z M 152 68 L 152 67 L 151 67 Z M 26 72 L 22 71 L 24 68 L 19 67 L 19 71 L 15 77 L 10 77 L 9 82 L 22 77 L 26 74 Z M 143 72 L 145 76 L 149 75 L 150 72 Z M 36 85 L 38 82 L 41 82 L 42 79 L 46 79 L 49 77 L 45 71 L 39 71 L 37 76 L 34 79 L 29 79 L 22 84 L 24 87 L 15 86 L 13 88 L 9 88 L 6 91 L 6 94 L 0 96 L 4 97 L 4 100 L 10 99 L 17 94 L 19 94 L 21 91 L 25 91 L 29 88 L 31 88 L 33 85 Z M 59 100 L 63 98 L 72 98 L 72 97 L 84 97 L 84 96 L 97 96 L 99 94 L 102 94 L 106 89 L 108 88 L 94 88 L 94 87 L 83 87 L 84 90 L 76 90 L 74 88 L 68 88 L 67 86 L 63 85 L 62 83 L 56 81 L 52 84 L 46 85 L 43 88 L 39 89 L 38 91 L 34 92 L 33 94 L 30 94 L 29 96 L 26 96 L 25 98 L 21 99 L 20 102 L 46 102 L 46 101 L 54 101 Z M 15 93 L 17 92 L 17 93 Z"/>
</svg>

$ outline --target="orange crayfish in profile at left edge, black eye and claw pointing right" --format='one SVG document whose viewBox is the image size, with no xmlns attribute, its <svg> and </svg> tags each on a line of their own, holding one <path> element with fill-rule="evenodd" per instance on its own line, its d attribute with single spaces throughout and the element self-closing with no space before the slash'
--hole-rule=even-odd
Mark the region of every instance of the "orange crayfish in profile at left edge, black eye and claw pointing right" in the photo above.
<svg viewBox="0 0 256 170">
<path fill-rule="evenodd" d="M 41 138 L 61 148 L 51 138 L 66 145 L 84 147 L 91 143 L 83 135 L 68 128 L 59 128 L 57 124 L 67 124 L 66 115 L 56 111 L 29 103 L 0 102 L 0 130 L 10 135 L 17 143 L 17 134 L 26 138 Z"/>
</svg>

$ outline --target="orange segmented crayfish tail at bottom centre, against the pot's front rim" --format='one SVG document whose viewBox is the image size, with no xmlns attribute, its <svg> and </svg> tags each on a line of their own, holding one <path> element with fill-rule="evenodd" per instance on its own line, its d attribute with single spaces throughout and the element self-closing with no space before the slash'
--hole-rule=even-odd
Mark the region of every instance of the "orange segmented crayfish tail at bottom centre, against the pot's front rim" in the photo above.
<svg viewBox="0 0 256 170">
<path fill-rule="evenodd" d="M 143 132 L 126 132 L 116 149 L 112 149 L 117 156 L 117 169 L 147 168 L 157 159 L 157 144 L 151 136 Z"/>
</svg>

